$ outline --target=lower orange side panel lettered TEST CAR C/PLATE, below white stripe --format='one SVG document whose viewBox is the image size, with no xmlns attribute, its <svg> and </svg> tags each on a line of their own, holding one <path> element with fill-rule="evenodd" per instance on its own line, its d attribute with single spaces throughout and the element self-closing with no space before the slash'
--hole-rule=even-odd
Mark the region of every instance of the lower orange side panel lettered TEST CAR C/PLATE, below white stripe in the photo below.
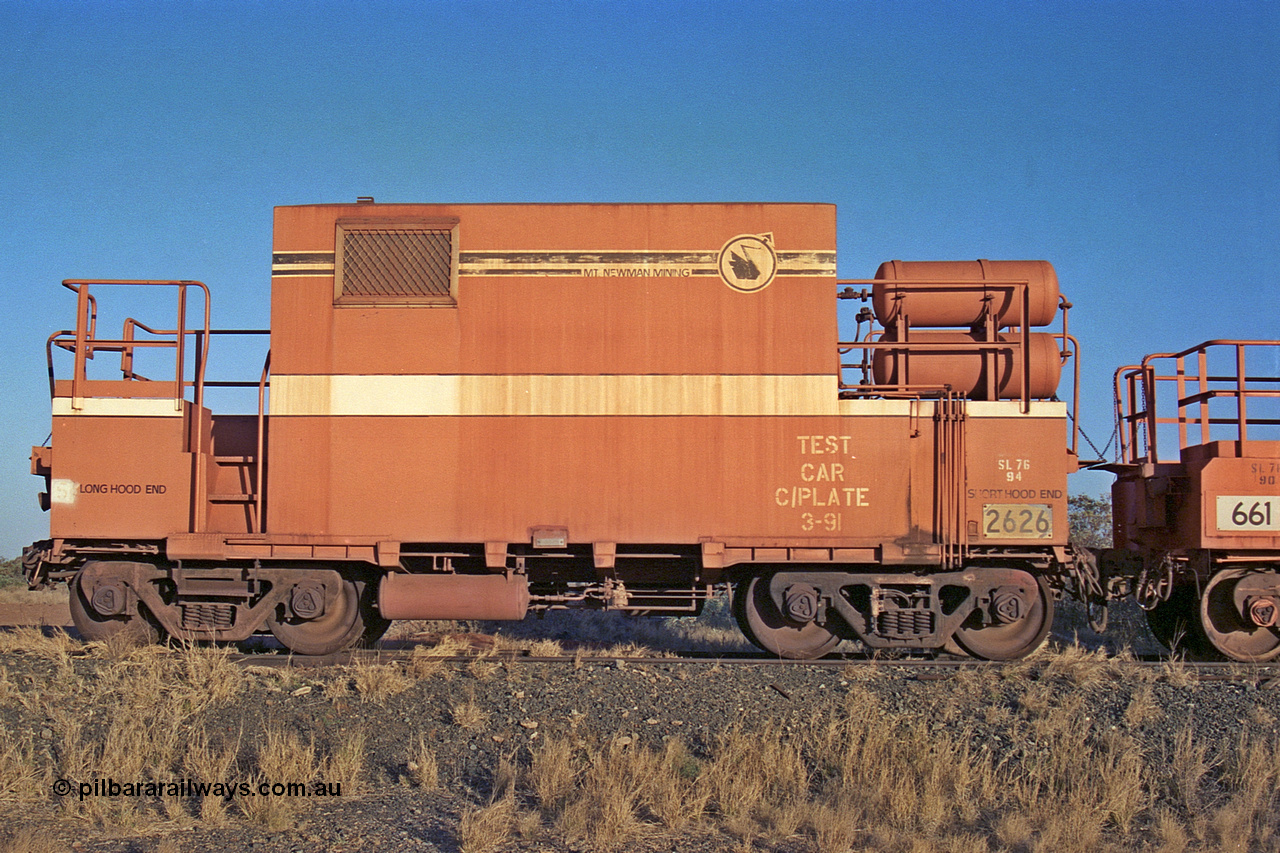
<svg viewBox="0 0 1280 853">
<path fill-rule="evenodd" d="M 273 460 L 282 497 L 271 529 L 428 542 L 529 542 L 548 526 L 572 542 L 893 542 L 904 560 L 932 560 L 934 434 L 916 429 L 906 401 L 852 402 L 845 416 L 808 418 L 278 418 L 273 430 L 297 456 Z M 1064 543 L 1073 465 L 1061 405 L 1037 403 L 1037 416 L 1018 403 L 974 406 L 969 542 Z M 324 465 L 303 464 L 308 451 Z M 1020 516 L 1018 529 L 992 533 L 989 512 L 1015 507 L 1033 512 L 1027 534 Z"/>
</svg>

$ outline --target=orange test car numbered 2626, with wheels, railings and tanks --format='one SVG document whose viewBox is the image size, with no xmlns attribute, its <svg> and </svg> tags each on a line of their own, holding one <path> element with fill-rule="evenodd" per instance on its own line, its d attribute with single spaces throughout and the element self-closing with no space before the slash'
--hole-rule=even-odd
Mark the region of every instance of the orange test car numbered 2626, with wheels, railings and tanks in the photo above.
<svg viewBox="0 0 1280 853">
<path fill-rule="evenodd" d="M 776 654 L 1014 658 L 1097 588 L 1047 263 L 838 282 L 819 204 L 287 206 L 273 252 L 256 415 L 205 405 L 204 284 L 142 283 L 173 328 L 108 338 L 120 282 L 64 282 L 26 566 L 86 637 L 319 654 L 396 619 L 695 613 L 732 583 Z M 837 295 L 870 333 L 840 342 Z"/>
</svg>

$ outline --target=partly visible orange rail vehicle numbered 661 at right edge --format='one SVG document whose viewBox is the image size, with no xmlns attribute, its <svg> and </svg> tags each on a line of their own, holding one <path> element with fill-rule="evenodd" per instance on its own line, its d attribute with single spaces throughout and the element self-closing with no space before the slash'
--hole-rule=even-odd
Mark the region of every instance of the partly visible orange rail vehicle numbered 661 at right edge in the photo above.
<svg viewBox="0 0 1280 853">
<path fill-rule="evenodd" d="M 1208 341 L 1116 371 L 1115 548 L 1152 634 L 1192 657 L 1280 657 L 1276 341 Z"/>
</svg>

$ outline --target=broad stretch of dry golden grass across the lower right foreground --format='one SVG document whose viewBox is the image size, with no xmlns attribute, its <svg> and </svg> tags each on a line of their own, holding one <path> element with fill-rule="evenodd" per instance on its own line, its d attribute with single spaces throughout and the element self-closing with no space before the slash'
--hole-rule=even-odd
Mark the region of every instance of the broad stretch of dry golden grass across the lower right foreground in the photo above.
<svg viewBox="0 0 1280 853">
<path fill-rule="evenodd" d="M 1135 731 L 1162 719 L 1149 683 L 1135 684 L 1124 726 L 1092 717 L 1096 697 L 1082 681 L 1115 690 L 1116 679 L 1130 680 L 1110 666 L 1073 656 L 1053 679 L 957 676 L 970 694 L 1005 690 L 1007 707 L 996 716 L 1011 745 L 1001 748 L 963 725 L 940 725 L 951 711 L 946 698 L 911 720 L 881 712 L 864 683 L 852 683 L 838 713 L 797 730 L 733 730 L 707 754 L 675 739 L 648 747 L 630 736 L 548 738 L 520 774 L 513 804 L 486 808 L 506 816 L 509 836 L 527 800 L 544 831 L 590 849 L 695 825 L 716 826 L 744 849 L 796 839 L 841 853 L 1275 848 L 1274 734 L 1242 735 L 1215 758 L 1187 727 L 1171 754 L 1148 756 Z"/>
</svg>

